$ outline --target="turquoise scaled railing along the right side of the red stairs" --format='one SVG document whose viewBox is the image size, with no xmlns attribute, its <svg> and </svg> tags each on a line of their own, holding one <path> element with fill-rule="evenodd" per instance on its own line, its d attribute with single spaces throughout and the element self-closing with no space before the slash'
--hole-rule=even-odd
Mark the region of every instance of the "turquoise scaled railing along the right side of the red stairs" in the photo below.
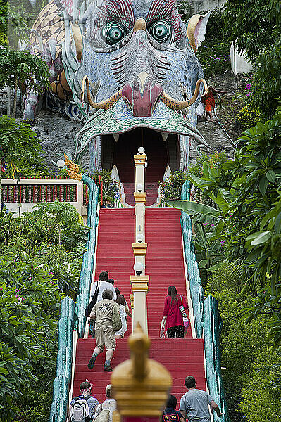
<svg viewBox="0 0 281 422">
<path fill-rule="evenodd" d="M 190 185 L 190 181 L 185 181 L 185 184 L 183 184 L 182 200 L 189 200 Z M 208 389 L 211 397 L 213 397 L 223 413 L 220 418 L 215 413 L 213 420 L 214 422 L 229 422 L 220 366 L 219 333 L 222 322 L 218 313 L 218 302 L 211 295 L 204 300 L 204 290 L 201 285 L 199 268 L 192 243 L 192 222 L 189 215 L 184 211 L 182 211 L 181 224 L 196 336 L 197 338 L 204 338 Z"/>
</svg>

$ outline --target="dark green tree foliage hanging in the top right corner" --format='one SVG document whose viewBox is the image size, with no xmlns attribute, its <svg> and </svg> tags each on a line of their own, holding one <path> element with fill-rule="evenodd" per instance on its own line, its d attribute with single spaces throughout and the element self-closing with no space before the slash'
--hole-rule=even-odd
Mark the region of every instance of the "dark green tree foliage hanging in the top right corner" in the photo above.
<svg viewBox="0 0 281 422">
<path fill-rule="evenodd" d="M 273 116 L 281 98 L 281 18 L 279 0 L 225 2 L 225 35 L 254 63 L 251 108 Z"/>
</svg>

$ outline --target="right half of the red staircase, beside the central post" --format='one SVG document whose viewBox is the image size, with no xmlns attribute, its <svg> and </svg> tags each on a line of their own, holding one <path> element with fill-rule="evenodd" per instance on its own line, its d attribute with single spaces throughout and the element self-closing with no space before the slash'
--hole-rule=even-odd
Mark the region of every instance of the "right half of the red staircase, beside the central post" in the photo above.
<svg viewBox="0 0 281 422">
<path fill-rule="evenodd" d="M 145 226 L 146 274 L 149 274 L 147 317 L 153 339 L 150 356 L 165 365 L 173 376 L 171 393 L 179 405 L 180 397 L 186 392 L 186 376 L 194 376 L 197 388 L 206 390 L 203 340 L 192 339 L 190 327 L 185 339 L 159 338 L 168 287 L 175 286 L 177 293 L 187 299 L 180 210 L 146 208 Z"/>
</svg>

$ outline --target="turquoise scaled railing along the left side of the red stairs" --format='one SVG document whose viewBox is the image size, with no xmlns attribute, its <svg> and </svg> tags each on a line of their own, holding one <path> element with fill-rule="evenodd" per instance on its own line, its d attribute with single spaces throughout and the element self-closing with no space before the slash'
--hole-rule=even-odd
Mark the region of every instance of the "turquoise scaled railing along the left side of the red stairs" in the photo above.
<svg viewBox="0 0 281 422">
<path fill-rule="evenodd" d="M 82 181 L 89 187 L 87 226 L 90 229 L 86 245 L 87 252 L 83 255 L 76 303 L 68 297 L 61 302 L 61 315 L 58 321 L 56 378 L 54 379 L 53 402 L 51 404 L 49 422 L 65 422 L 67 416 L 68 395 L 73 367 L 73 331 L 77 330 L 79 338 L 84 335 L 86 324 L 85 308 L 89 302 L 92 271 L 94 269 L 96 226 L 98 223 L 98 188 L 86 174 L 83 174 Z"/>
</svg>

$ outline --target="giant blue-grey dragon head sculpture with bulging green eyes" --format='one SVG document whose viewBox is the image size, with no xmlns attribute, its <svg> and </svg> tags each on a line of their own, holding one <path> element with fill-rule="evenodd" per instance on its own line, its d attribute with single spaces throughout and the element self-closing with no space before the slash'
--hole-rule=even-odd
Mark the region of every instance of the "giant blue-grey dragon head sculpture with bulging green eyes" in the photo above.
<svg viewBox="0 0 281 422">
<path fill-rule="evenodd" d="M 87 119 L 76 157 L 89 147 L 93 167 L 111 168 L 144 145 L 164 170 L 185 170 L 189 139 L 204 143 L 196 107 L 206 82 L 195 52 L 208 15 L 185 25 L 175 0 L 61 0 L 61 7 L 65 79 Z"/>
</svg>

